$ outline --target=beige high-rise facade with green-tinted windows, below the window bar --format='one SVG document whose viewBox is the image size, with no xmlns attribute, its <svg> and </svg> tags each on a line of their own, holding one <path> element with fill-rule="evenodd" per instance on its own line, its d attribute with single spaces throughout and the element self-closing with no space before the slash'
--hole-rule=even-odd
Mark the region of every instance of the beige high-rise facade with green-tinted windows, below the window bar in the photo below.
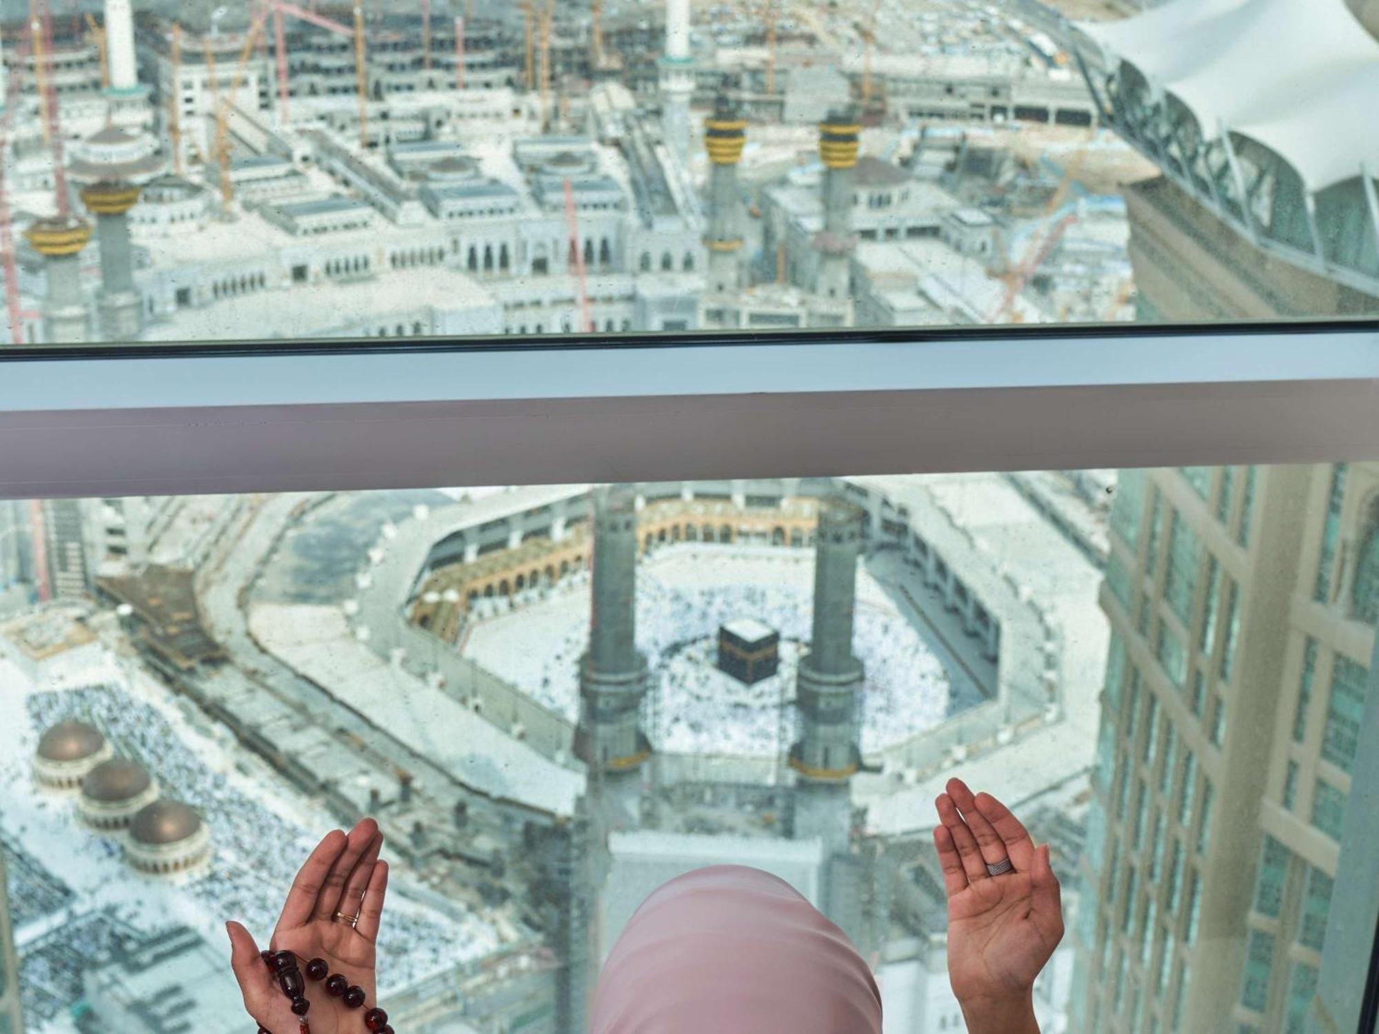
<svg viewBox="0 0 1379 1034">
<path fill-rule="evenodd" d="M 1305 1030 L 1379 611 L 1376 489 L 1371 465 L 1121 476 L 1077 1028 Z"/>
</svg>

